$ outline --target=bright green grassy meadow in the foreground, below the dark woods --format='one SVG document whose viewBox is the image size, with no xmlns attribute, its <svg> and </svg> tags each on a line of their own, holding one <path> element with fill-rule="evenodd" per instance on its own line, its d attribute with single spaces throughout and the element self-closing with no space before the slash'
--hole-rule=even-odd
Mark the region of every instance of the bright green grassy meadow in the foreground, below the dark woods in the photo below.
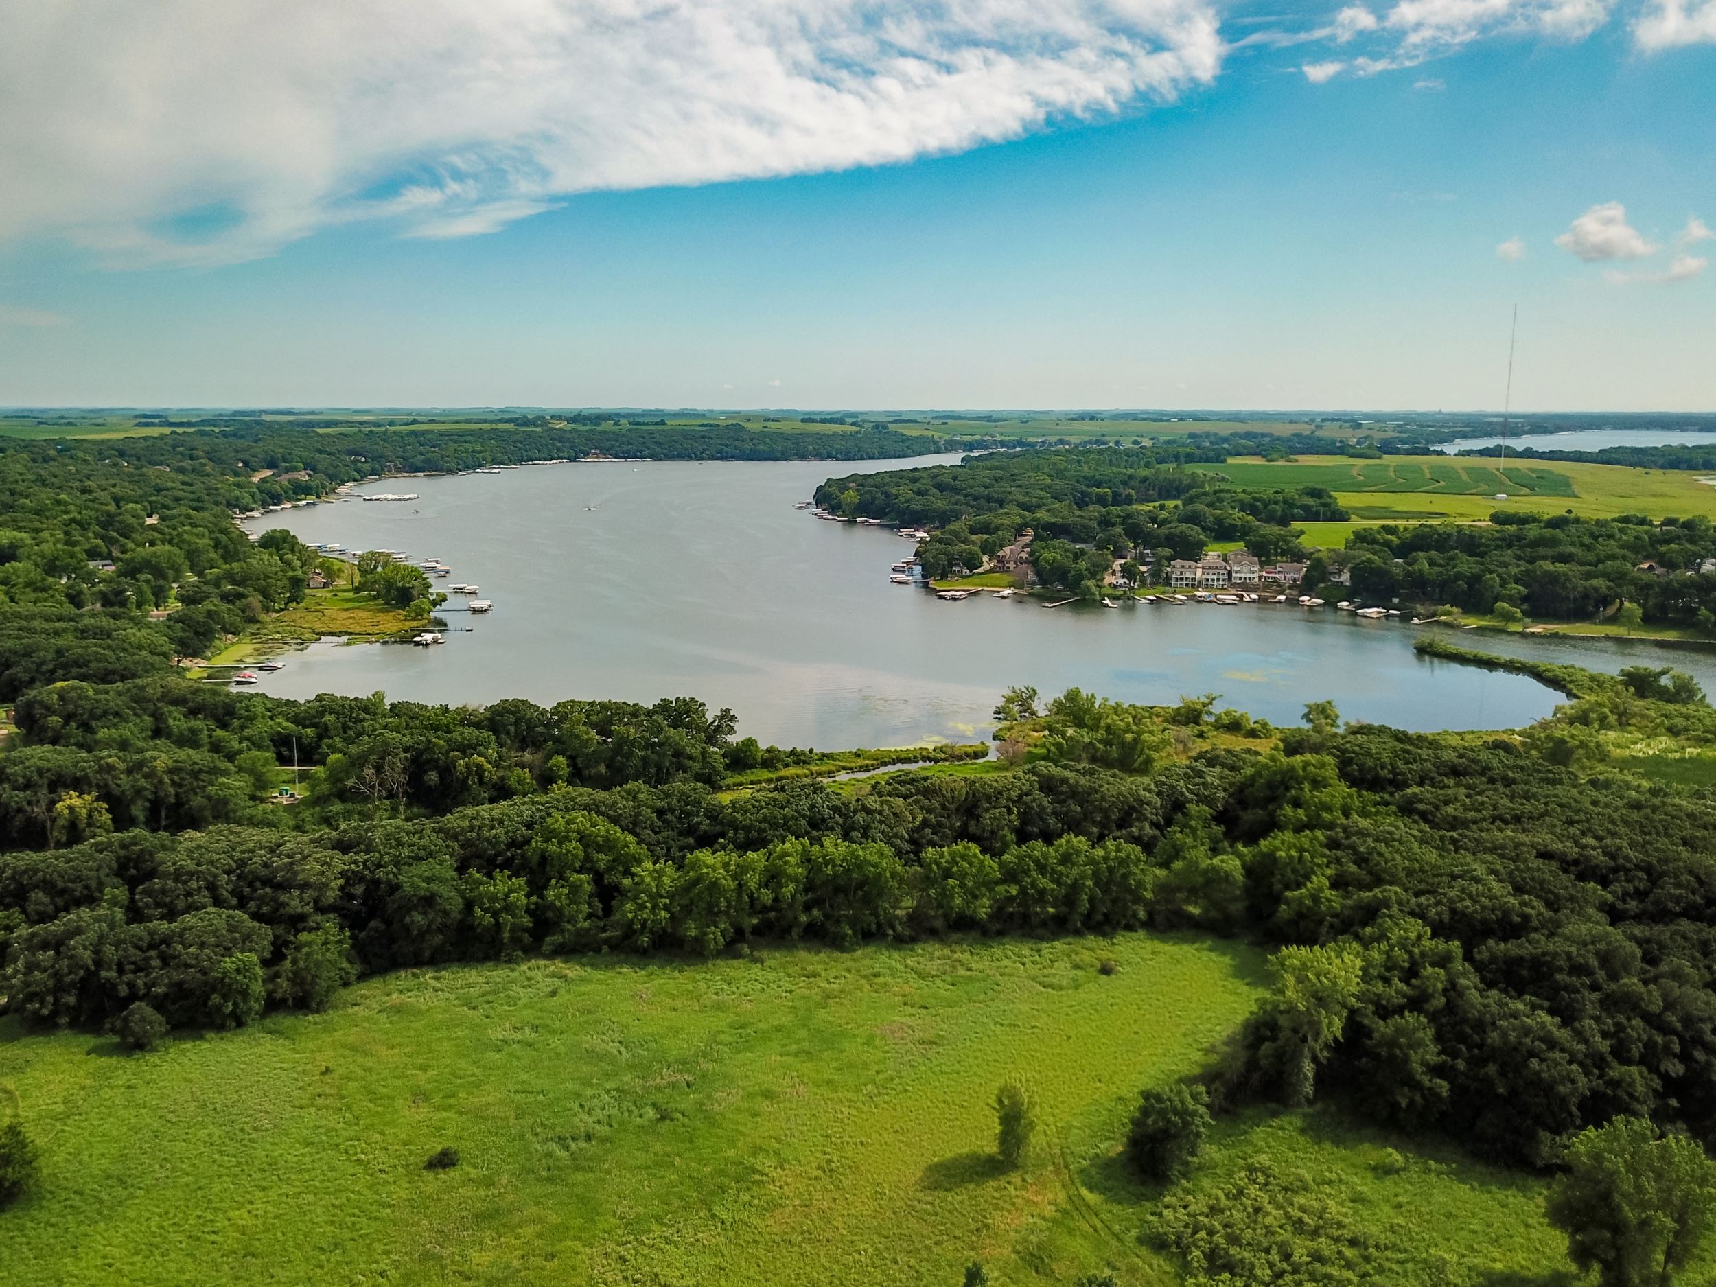
<svg viewBox="0 0 1716 1287">
<path fill-rule="evenodd" d="M 463 966 L 146 1057 L 0 1021 L 43 1148 L 0 1263 L 9 1287 L 958 1284 L 971 1260 L 997 1287 L 1167 1287 L 1117 1150 L 1260 966 L 1143 934 Z M 1042 1121 L 1023 1174 L 992 1162 L 1011 1076 Z M 1392 1227 L 1416 1211 L 1450 1282 L 1556 1266 L 1536 1181 L 1416 1155 L 1369 1179 L 1381 1143 L 1332 1122 L 1236 1119 L 1210 1165 L 1287 1157 Z M 426 1170 L 441 1146 L 460 1165 Z"/>
</svg>

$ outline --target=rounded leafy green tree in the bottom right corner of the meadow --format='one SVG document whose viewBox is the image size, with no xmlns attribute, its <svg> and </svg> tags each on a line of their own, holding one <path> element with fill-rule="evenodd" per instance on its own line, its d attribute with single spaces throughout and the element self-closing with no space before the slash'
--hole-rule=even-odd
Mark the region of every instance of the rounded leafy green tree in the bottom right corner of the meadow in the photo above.
<svg viewBox="0 0 1716 1287">
<path fill-rule="evenodd" d="M 1616 1117 L 1574 1139 L 1544 1213 L 1601 1287 L 1668 1287 L 1716 1217 L 1716 1165 L 1685 1136 Z"/>
</svg>

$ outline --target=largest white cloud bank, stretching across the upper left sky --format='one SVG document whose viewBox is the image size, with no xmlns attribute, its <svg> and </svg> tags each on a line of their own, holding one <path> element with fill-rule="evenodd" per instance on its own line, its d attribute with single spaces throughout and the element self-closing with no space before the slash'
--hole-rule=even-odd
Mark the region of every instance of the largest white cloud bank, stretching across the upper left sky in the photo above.
<svg viewBox="0 0 1716 1287">
<path fill-rule="evenodd" d="M 887 165 L 1215 79 L 1211 0 L 0 5 L 0 239 L 221 263 Z"/>
</svg>

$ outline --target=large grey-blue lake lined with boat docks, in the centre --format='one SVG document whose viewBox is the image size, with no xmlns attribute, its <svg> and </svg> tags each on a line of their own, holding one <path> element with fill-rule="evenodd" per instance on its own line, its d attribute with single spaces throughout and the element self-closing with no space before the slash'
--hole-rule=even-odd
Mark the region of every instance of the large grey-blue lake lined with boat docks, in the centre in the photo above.
<svg viewBox="0 0 1716 1287">
<path fill-rule="evenodd" d="M 1411 729 L 1510 728 L 1562 700 L 1522 676 L 1421 659 L 1400 621 L 1328 609 L 940 602 L 889 583 L 911 553 L 892 530 L 793 508 L 836 472 L 952 460 L 542 465 L 364 487 L 420 494 L 408 503 L 268 515 L 251 527 L 444 559 L 448 580 L 479 583 L 494 611 L 455 611 L 455 597 L 444 647 L 324 640 L 259 686 L 453 704 L 688 695 L 733 707 L 741 734 L 825 750 L 982 736 L 1019 683 L 1158 704 L 1218 692 L 1277 722 L 1326 697 L 1349 719 Z M 1668 656 L 1716 690 L 1716 666 L 1647 645 L 1489 647 L 1601 669 Z"/>
</svg>

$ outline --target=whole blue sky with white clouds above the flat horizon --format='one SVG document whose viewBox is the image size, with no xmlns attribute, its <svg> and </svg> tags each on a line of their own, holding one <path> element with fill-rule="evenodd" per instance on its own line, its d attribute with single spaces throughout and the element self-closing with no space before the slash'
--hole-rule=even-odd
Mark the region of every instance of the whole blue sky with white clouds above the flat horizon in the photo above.
<svg viewBox="0 0 1716 1287">
<path fill-rule="evenodd" d="M 0 17 L 0 403 L 1716 410 L 1716 0 L 793 3 Z"/>
</svg>

